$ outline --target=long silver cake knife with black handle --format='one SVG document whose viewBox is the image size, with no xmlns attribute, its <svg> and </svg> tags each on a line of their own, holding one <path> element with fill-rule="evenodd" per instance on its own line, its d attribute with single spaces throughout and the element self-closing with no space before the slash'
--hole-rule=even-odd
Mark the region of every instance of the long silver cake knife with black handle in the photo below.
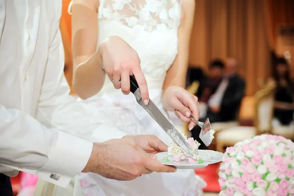
<svg viewBox="0 0 294 196">
<path fill-rule="evenodd" d="M 138 104 L 140 104 L 152 118 L 161 126 L 161 128 L 172 138 L 172 140 L 179 145 L 187 155 L 193 157 L 193 151 L 188 142 L 182 134 L 172 125 L 169 119 L 157 108 L 157 106 L 149 100 L 148 105 L 145 105 L 139 85 L 134 76 L 130 76 L 130 90 L 135 95 Z"/>
</svg>

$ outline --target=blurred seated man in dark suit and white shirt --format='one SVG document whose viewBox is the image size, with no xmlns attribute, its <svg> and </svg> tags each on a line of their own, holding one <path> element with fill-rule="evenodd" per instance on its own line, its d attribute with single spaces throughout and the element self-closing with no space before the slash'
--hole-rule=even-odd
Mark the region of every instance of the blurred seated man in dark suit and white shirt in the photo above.
<svg viewBox="0 0 294 196">
<path fill-rule="evenodd" d="M 207 101 L 207 114 L 204 118 L 200 118 L 200 121 L 203 122 L 206 118 L 209 118 L 211 123 L 237 119 L 245 93 L 245 81 L 237 74 L 237 66 L 236 59 L 228 58 L 226 60 L 225 75 L 216 91 L 209 97 Z M 199 149 L 206 149 L 207 147 L 199 139 L 199 133 L 200 128 L 196 126 L 192 130 L 192 137 L 200 142 Z"/>
</svg>

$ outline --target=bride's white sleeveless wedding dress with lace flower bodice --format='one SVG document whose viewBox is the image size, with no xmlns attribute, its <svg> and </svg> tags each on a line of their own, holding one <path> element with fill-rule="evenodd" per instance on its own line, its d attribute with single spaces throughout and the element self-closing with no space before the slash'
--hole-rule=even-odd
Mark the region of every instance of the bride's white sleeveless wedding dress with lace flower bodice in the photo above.
<svg viewBox="0 0 294 196">
<path fill-rule="evenodd" d="M 163 83 L 177 55 L 180 11 L 180 0 L 100 0 L 98 9 L 98 42 L 117 35 L 137 51 L 150 99 L 162 111 Z M 123 95 L 108 78 L 96 96 L 80 101 L 89 110 L 96 107 L 98 118 L 103 113 L 103 120 L 128 135 L 150 134 L 167 145 L 171 142 L 136 103 L 134 95 Z M 179 120 L 172 121 L 180 127 Z M 85 196 L 196 196 L 206 186 L 194 170 L 180 169 L 175 173 L 142 175 L 133 181 L 106 179 L 94 173 L 81 173 L 78 179 Z"/>
</svg>

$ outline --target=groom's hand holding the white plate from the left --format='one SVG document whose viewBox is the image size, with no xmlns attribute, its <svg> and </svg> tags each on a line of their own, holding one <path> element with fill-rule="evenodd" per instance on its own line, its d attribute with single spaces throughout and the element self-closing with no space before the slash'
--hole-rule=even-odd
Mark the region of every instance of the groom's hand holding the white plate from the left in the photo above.
<svg viewBox="0 0 294 196">
<path fill-rule="evenodd" d="M 149 140 L 145 144 L 152 144 L 150 141 L 152 139 L 140 138 L 139 140 L 140 142 Z M 152 145 L 147 149 L 157 148 L 156 144 L 153 147 Z M 151 155 L 131 137 L 94 143 L 92 155 L 87 166 L 83 169 L 83 172 L 94 172 L 106 178 L 117 180 L 133 180 L 141 174 L 148 174 L 152 171 L 175 172 L 176 169 L 151 158 Z"/>
</svg>

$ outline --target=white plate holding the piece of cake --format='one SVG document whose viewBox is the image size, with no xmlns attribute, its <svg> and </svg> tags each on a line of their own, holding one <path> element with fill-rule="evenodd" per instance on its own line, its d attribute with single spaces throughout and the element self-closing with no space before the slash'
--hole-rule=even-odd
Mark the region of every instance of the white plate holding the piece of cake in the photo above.
<svg viewBox="0 0 294 196">
<path fill-rule="evenodd" d="M 168 155 L 168 152 L 160 152 L 157 155 L 157 160 L 168 166 L 174 166 L 178 169 L 196 169 L 196 168 L 204 168 L 210 164 L 221 162 L 223 153 L 213 151 L 213 150 L 198 150 L 199 153 L 202 155 L 202 160 L 204 163 L 188 163 L 188 158 L 185 160 L 181 160 L 179 162 L 173 161 L 172 156 Z M 165 161 L 167 158 L 169 158 L 170 162 Z"/>
</svg>

